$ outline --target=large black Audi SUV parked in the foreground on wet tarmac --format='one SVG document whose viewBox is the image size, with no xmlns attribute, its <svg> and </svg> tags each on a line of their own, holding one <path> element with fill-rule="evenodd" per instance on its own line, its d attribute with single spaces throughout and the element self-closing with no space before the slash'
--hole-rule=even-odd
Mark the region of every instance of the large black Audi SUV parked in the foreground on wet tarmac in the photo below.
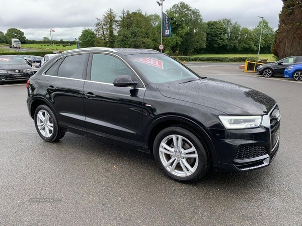
<svg viewBox="0 0 302 226">
<path fill-rule="evenodd" d="M 153 153 L 169 177 L 268 166 L 279 147 L 274 99 L 200 77 L 155 50 L 83 48 L 57 54 L 27 83 L 42 139 L 66 132 Z"/>
</svg>

